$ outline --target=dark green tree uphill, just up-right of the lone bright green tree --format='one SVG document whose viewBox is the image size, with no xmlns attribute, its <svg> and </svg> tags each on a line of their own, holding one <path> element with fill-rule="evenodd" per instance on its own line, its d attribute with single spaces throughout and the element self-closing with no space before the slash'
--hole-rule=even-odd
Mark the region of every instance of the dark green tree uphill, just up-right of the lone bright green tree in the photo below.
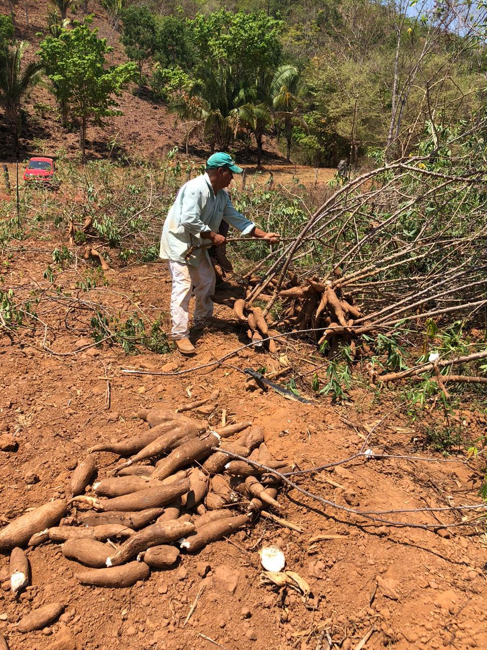
<svg viewBox="0 0 487 650">
<path fill-rule="evenodd" d="M 136 61 L 139 71 L 139 92 L 142 88 L 142 67 L 156 45 L 156 21 L 147 6 L 131 5 L 121 12 L 123 31 L 121 42 L 127 57 Z"/>
</svg>

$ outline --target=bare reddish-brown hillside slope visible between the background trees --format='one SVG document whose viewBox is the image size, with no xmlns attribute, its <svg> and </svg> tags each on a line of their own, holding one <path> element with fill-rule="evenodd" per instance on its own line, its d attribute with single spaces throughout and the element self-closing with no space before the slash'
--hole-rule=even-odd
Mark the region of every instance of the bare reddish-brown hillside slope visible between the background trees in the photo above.
<svg viewBox="0 0 487 650">
<path fill-rule="evenodd" d="M 26 61 L 35 57 L 36 47 L 42 40 L 38 34 L 47 31 L 46 16 L 49 10 L 49 0 L 25 0 L 16 5 L 16 38 L 30 44 L 25 55 Z M 99 2 L 92 1 L 90 12 L 94 14 L 93 27 L 99 29 L 99 36 L 106 38 L 108 44 L 114 47 L 114 64 L 125 62 L 127 57 L 119 42 L 119 32 L 110 28 L 106 11 Z M 7 0 L 0 0 L 0 13 L 10 13 Z M 68 12 L 68 17 L 82 19 L 82 12 Z M 133 85 L 119 99 L 119 110 L 123 115 L 107 118 L 103 128 L 88 128 L 88 157 L 157 157 L 175 146 L 183 147 L 184 129 L 181 124 L 177 124 L 175 115 L 169 113 L 164 103 L 153 99 L 148 88 L 143 90 L 140 97 L 136 90 L 137 86 Z M 55 155 L 61 150 L 69 158 L 79 155 L 78 133 L 62 129 L 55 119 L 55 101 L 47 88 L 34 88 L 23 103 L 23 110 L 27 114 L 27 121 L 20 138 L 21 159 L 28 159 L 32 155 Z M 14 152 L 7 146 L 8 128 L 2 118 L 0 114 L 0 159 L 7 162 L 14 159 Z M 284 162 L 272 138 L 264 139 L 264 149 L 268 152 L 267 161 Z M 194 136 L 190 154 L 193 158 L 205 159 L 208 156 L 208 146 L 201 138 Z M 242 162 L 252 163 L 254 154 L 242 151 L 240 158 Z"/>
</svg>

